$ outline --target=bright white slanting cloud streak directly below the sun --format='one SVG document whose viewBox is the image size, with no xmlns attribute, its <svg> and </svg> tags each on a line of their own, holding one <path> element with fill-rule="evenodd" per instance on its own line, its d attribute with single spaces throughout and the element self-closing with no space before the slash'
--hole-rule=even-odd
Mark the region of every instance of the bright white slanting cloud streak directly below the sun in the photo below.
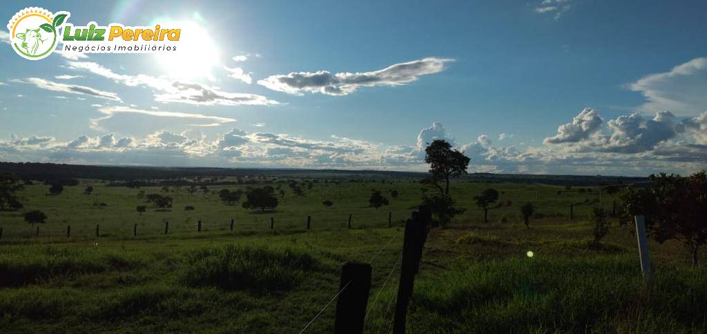
<svg viewBox="0 0 707 334">
<path fill-rule="evenodd" d="M 199 83 L 172 81 L 138 74 L 131 76 L 115 73 L 110 68 L 90 61 L 69 61 L 69 68 L 89 71 L 128 86 L 144 86 L 155 91 L 155 100 L 163 103 L 186 103 L 189 105 L 276 105 L 277 101 L 247 93 L 228 93 Z"/>
</svg>

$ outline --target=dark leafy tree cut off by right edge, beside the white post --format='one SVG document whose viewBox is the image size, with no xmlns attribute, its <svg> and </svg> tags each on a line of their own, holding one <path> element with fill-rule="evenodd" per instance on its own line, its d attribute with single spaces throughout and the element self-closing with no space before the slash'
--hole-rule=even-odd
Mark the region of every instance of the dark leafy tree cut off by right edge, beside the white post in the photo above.
<svg viewBox="0 0 707 334">
<path fill-rule="evenodd" d="M 648 235 L 659 243 L 682 241 L 699 264 L 699 249 L 707 244 L 707 172 L 689 177 L 661 173 L 650 175 L 652 185 L 629 189 L 624 193 L 621 224 L 633 221 L 634 215 L 645 216 Z"/>
</svg>

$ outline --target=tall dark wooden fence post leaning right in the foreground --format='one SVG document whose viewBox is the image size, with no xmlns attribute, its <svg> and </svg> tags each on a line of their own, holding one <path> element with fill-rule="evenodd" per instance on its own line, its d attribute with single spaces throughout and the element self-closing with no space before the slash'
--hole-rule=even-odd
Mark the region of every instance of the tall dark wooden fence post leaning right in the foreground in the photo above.
<svg viewBox="0 0 707 334">
<path fill-rule="evenodd" d="M 419 211 L 413 212 L 411 219 L 405 224 L 393 333 L 405 333 L 407 304 L 412 296 L 415 275 L 422 257 L 422 247 L 427 239 L 427 229 L 431 220 L 431 211 L 428 208 L 419 208 Z"/>
</svg>

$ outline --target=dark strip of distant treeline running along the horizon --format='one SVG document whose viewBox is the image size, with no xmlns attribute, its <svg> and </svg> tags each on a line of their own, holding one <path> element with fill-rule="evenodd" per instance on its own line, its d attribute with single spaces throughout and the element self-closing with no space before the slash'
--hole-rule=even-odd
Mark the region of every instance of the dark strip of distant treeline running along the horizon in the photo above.
<svg viewBox="0 0 707 334">
<path fill-rule="evenodd" d="M 185 179 L 199 179 L 212 185 L 233 185 L 259 183 L 252 177 L 291 178 L 331 178 L 358 179 L 399 179 L 416 181 L 427 176 L 423 172 L 392 172 L 344 169 L 255 169 L 255 168 L 206 168 L 206 167 L 127 167 L 66 165 L 38 162 L 0 162 L 0 172 L 9 172 L 18 179 L 40 180 L 47 183 L 71 185 L 75 179 L 100 179 L 112 181 L 112 186 L 182 186 L 193 184 Z M 220 179 L 223 177 L 248 178 L 243 181 Z M 556 186 L 605 186 L 609 184 L 648 184 L 647 177 L 608 177 L 576 175 L 532 175 L 532 174 L 490 174 L 472 173 L 460 178 L 462 181 L 479 183 L 526 183 L 551 184 Z M 64 181 L 65 180 L 65 181 Z"/>
</svg>

